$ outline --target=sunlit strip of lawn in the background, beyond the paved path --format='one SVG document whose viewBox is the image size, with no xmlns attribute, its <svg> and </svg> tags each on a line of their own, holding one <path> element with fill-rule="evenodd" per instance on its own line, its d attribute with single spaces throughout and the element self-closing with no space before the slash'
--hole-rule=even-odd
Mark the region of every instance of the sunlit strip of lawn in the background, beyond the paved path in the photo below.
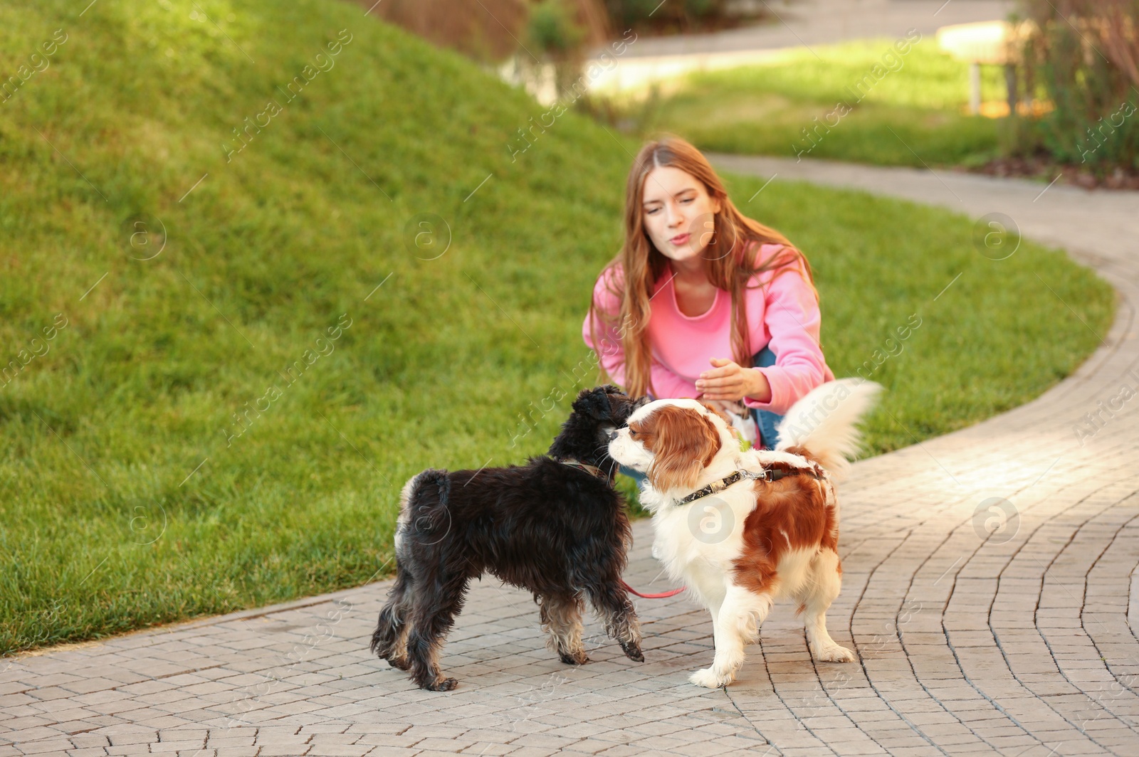
<svg viewBox="0 0 1139 757">
<path fill-rule="evenodd" d="M 616 107 L 642 134 L 673 132 L 723 153 L 802 153 L 902 166 L 997 157 L 997 121 L 961 113 L 969 93 L 967 64 L 940 52 L 927 36 L 891 60 L 891 71 L 882 63 L 892 44 L 860 41 L 786 52 L 761 66 L 670 82 L 658 100 L 625 96 Z M 876 65 L 878 75 L 865 80 Z M 985 66 L 983 74 L 985 99 L 1002 100 L 998 68 Z M 860 81 L 868 84 L 859 89 Z"/>
</svg>

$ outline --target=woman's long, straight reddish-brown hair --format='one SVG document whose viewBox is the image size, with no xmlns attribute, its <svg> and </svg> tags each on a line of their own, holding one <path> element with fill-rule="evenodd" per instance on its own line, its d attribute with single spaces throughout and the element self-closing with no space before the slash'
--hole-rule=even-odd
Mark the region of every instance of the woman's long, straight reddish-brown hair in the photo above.
<svg viewBox="0 0 1139 757">
<path fill-rule="evenodd" d="M 661 254 L 648 238 L 644 224 L 645 179 L 650 171 L 662 166 L 680 168 L 691 174 L 704 184 L 713 200 L 720 201 L 720 212 L 714 217 L 712 239 L 702 253 L 702 257 L 707 261 L 708 280 L 731 295 L 731 347 L 735 361 L 739 365 L 752 367 L 744 296 L 747 282 L 756 273 L 764 271 L 776 270 L 776 275 L 796 271 L 805 277 L 814 290 L 814 273 L 806 257 L 775 229 L 743 215 L 728 198 L 720 176 L 698 149 L 679 137 L 665 137 L 648 142 L 637 154 L 629 171 L 629 182 L 625 186 L 624 245 L 603 272 L 603 279 L 611 287 L 609 294 L 621 303 L 620 312 L 601 312 L 596 301 L 591 301 L 589 305 L 590 329 L 595 345 L 599 344 L 593 328 L 597 322 L 618 332 L 625 359 L 624 388 L 634 397 L 653 390 L 650 375 L 653 354 L 648 344 L 649 298 L 653 295 L 653 285 L 669 264 L 669 258 Z M 703 237 L 706 232 L 697 233 Z M 767 260 L 757 262 L 760 246 L 765 244 L 780 245 L 780 249 Z M 611 275 L 613 273 L 616 275 Z M 814 298 L 818 302 L 818 290 L 814 290 Z M 608 380 L 604 368 L 601 375 L 603 380 Z"/>
</svg>

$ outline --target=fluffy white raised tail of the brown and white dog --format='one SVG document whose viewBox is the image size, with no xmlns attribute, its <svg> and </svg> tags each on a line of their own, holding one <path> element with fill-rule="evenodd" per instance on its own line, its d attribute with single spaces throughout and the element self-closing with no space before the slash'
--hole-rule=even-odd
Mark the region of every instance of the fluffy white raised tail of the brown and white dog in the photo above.
<svg viewBox="0 0 1139 757">
<path fill-rule="evenodd" d="M 803 447 L 833 478 L 842 478 L 850 468 L 847 458 L 859 452 L 859 419 L 874 405 L 879 392 L 879 384 L 860 378 L 816 387 L 784 415 L 776 450 Z"/>
</svg>

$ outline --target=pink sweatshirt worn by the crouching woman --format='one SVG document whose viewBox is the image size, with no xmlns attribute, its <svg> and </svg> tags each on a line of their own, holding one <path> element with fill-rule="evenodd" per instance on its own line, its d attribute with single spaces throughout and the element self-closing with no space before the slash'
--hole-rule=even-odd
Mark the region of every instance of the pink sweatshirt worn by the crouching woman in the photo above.
<svg viewBox="0 0 1139 757">
<path fill-rule="evenodd" d="M 767 260 L 778 249 L 778 245 L 764 245 L 760 248 L 759 260 Z M 593 287 L 593 301 L 598 310 L 606 313 L 620 312 L 617 297 L 607 289 L 615 275 L 620 272 L 607 269 Z M 819 348 L 819 306 L 805 273 L 785 271 L 773 277 L 773 272 L 768 271 L 753 277 L 748 286 L 755 287 L 761 282 L 770 283 L 764 288 L 748 288 L 745 293 L 748 349 L 754 355 L 764 346 L 770 346 L 776 354 L 775 365 L 752 369 L 767 377 L 771 385 L 771 402 L 746 398 L 745 404 L 782 415 L 808 392 L 825 381 L 833 381 L 835 375 L 827 368 Z M 712 369 L 708 362 L 712 357 L 735 360 L 731 348 L 731 295 L 716 289 L 715 301 L 707 312 L 696 316 L 685 315 L 677 306 L 672 273 L 665 270 L 653 285 L 650 308 L 648 336 L 653 348 L 654 396 L 696 397 L 699 394 L 696 379 Z M 623 385 L 624 349 L 617 330 L 605 329 L 598 323 L 597 335 L 600 348 L 590 338 L 590 319 L 587 315 L 582 326 L 585 344 L 597 352 L 613 380 Z"/>
</svg>

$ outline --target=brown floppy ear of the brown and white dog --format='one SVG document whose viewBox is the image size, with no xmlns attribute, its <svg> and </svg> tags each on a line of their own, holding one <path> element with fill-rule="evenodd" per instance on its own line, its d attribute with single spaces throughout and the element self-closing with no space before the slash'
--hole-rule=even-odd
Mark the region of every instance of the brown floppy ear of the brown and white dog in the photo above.
<svg viewBox="0 0 1139 757">
<path fill-rule="evenodd" d="M 720 433 L 703 413 L 666 406 L 653 413 L 653 462 L 648 479 L 653 488 L 695 488 L 704 469 L 720 451 Z"/>
</svg>

